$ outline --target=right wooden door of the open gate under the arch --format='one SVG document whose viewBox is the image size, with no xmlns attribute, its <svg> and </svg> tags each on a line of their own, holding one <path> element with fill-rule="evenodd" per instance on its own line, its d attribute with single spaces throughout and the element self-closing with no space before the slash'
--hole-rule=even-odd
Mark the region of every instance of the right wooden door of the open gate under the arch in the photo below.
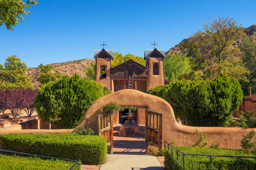
<svg viewBox="0 0 256 170">
<path fill-rule="evenodd" d="M 146 154 L 149 152 L 149 145 L 162 149 L 162 122 L 163 114 L 145 110 Z"/>
</svg>

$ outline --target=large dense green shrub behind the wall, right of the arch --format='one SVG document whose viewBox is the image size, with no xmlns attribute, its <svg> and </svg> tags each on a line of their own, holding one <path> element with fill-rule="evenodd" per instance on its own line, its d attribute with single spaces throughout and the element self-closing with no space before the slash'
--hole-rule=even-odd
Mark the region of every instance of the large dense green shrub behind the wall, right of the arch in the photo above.
<svg viewBox="0 0 256 170">
<path fill-rule="evenodd" d="M 147 93 L 170 103 L 175 117 L 184 117 L 189 126 L 228 127 L 229 117 L 243 99 L 238 81 L 223 74 L 210 81 L 182 79 Z"/>
</svg>

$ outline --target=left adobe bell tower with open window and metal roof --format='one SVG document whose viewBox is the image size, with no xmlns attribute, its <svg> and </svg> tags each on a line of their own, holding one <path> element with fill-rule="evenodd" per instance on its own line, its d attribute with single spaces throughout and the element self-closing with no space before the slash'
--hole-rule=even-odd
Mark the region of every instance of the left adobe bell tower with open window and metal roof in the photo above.
<svg viewBox="0 0 256 170">
<path fill-rule="evenodd" d="M 111 60 L 113 60 L 113 50 L 94 50 L 95 63 L 95 81 L 109 90 L 111 87 Z"/>
</svg>

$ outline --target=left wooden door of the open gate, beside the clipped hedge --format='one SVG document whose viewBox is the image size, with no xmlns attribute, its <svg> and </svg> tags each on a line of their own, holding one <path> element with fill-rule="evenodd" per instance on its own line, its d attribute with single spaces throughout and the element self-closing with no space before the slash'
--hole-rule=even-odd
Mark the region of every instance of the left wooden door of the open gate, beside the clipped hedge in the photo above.
<svg viewBox="0 0 256 170">
<path fill-rule="evenodd" d="M 98 115 L 99 136 L 107 139 L 109 153 L 113 154 L 113 113 L 104 112 Z"/>
</svg>

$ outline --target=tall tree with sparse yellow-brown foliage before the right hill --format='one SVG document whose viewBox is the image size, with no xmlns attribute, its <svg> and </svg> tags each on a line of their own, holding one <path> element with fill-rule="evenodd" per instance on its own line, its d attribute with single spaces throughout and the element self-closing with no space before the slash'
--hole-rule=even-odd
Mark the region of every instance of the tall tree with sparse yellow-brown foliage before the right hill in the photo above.
<svg viewBox="0 0 256 170">
<path fill-rule="evenodd" d="M 224 73 L 238 80 L 245 80 L 248 71 L 244 68 L 242 60 L 237 59 L 241 52 L 232 46 L 235 40 L 245 35 L 241 24 L 237 24 L 233 18 L 219 17 L 212 19 L 209 24 L 204 23 L 203 26 L 204 31 L 198 30 L 180 45 L 182 50 L 188 52 L 192 66 L 192 73 L 185 77 L 206 80 Z M 227 74 L 228 70 L 234 73 Z"/>
</svg>

